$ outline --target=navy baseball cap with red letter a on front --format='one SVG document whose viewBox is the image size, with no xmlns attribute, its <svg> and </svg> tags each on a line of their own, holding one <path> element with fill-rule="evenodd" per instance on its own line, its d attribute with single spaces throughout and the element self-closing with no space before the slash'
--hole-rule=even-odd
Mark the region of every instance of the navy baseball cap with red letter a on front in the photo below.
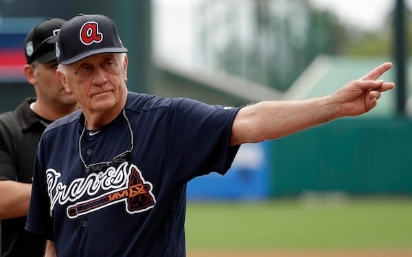
<svg viewBox="0 0 412 257">
<path fill-rule="evenodd" d="M 56 56 L 62 65 L 94 54 L 125 52 L 115 23 L 102 14 L 78 14 L 62 25 L 57 35 Z"/>
</svg>

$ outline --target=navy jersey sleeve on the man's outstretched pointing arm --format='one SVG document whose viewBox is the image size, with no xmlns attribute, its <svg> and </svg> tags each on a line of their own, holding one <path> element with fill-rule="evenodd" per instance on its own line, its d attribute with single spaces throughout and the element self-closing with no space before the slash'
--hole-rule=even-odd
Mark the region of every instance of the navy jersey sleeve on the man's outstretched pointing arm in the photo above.
<svg viewBox="0 0 412 257">
<path fill-rule="evenodd" d="M 187 181 L 209 172 L 223 175 L 230 168 L 239 148 L 229 145 L 238 110 L 187 98 L 174 100 L 166 144 L 172 163 L 187 176 Z"/>
</svg>

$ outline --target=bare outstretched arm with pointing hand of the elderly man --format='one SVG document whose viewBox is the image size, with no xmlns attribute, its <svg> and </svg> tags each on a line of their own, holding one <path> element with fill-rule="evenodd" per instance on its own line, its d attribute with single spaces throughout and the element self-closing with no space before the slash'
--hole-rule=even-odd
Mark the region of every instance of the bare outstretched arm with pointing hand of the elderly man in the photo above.
<svg viewBox="0 0 412 257">
<path fill-rule="evenodd" d="M 336 118 L 366 113 L 376 107 L 381 92 L 395 87 L 393 82 L 377 81 L 391 67 L 391 63 L 383 63 L 330 96 L 244 107 L 233 121 L 231 145 L 275 139 Z"/>
</svg>

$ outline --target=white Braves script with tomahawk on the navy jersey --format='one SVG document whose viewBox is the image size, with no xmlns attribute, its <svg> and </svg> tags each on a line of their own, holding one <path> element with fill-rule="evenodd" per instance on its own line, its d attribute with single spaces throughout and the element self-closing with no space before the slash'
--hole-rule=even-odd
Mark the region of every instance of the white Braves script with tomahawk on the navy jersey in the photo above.
<svg viewBox="0 0 412 257">
<path fill-rule="evenodd" d="M 121 201 L 125 202 L 126 212 L 131 214 L 149 210 L 156 203 L 152 183 L 145 181 L 137 166 L 127 161 L 118 168 L 108 167 L 102 172 L 74 179 L 69 185 L 59 181 L 61 176 L 54 169 L 46 171 L 50 216 L 56 204 L 73 203 L 67 207 L 67 216 L 73 219 Z M 76 202 L 87 197 L 94 198 Z"/>
</svg>

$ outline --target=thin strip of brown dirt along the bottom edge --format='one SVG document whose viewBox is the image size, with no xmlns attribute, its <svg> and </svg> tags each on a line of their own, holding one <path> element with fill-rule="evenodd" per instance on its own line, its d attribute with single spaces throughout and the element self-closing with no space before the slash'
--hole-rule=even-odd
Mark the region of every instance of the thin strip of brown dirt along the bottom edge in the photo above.
<svg viewBox="0 0 412 257">
<path fill-rule="evenodd" d="M 411 250 L 360 250 L 360 251 L 310 251 L 310 252 L 252 252 L 187 250 L 187 257 L 411 257 Z"/>
</svg>

